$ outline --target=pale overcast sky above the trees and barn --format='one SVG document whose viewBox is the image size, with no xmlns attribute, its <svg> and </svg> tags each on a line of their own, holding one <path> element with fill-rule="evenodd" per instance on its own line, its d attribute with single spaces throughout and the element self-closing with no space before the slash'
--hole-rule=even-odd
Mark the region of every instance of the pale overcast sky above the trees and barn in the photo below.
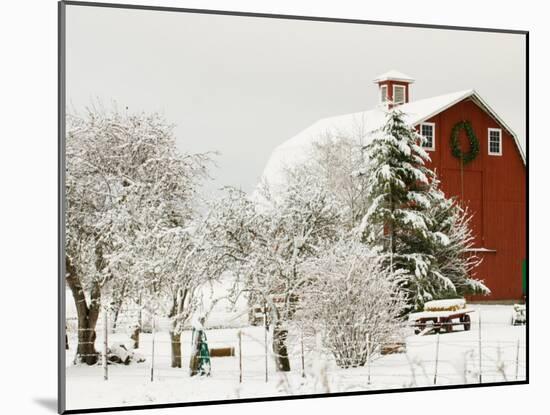
<svg viewBox="0 0 550 415">
<path fill-rule="evenodd" d="M 67 6 L 67 100 L 158 111 L 186 152 L 221 154 L 209 188 L 250 191 L 271 151 L 319 118 L 371 109 L 372 79 L 412 100 L 474 88 L 525 140 L 525 37 Z"/>
</svg>

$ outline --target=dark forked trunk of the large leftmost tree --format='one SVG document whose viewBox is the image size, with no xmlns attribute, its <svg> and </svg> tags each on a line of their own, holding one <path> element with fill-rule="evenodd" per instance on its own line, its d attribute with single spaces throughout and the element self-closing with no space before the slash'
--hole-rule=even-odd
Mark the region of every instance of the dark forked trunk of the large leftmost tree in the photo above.
<svg viewBox="0 0 550 415">
<path fill-rule="evenodd" d="M 92 286 L 90 306 L 88 306 L 76 269 L 67 256 L 65 257 L 65 265 L 67 284 L 73 294 L 78 316 L 77 358 L 81 362 L 95 365 L 98 361 L 98 352 L 95 350 L 95 327 L 99 317 L 101 290 L 98 284 Z"/>
</svg>

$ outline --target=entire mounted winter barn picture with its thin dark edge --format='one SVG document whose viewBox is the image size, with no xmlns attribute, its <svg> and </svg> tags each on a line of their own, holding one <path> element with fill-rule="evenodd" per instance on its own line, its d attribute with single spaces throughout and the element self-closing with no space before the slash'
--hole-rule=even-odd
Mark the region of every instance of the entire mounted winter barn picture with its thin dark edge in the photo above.
<svg viewBox="0 0 550 415">
<path fill-rule="evenodd" d="M 528 32 L 59 3 L 59 412 L 525 384 Z"/>
</svg>

